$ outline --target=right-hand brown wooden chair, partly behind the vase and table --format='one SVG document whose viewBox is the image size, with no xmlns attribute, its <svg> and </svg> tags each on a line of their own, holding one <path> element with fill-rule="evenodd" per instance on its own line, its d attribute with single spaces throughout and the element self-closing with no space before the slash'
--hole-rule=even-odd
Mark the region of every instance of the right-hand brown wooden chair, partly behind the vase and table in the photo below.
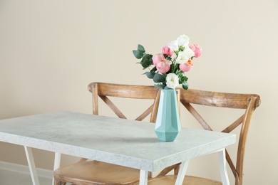
<svg viewBox="0 0 278 185">
<path fill-rule="evenodd" d="M 195 119 L 202 125 L 204 129 L 212 130 L 212 127 L 207 124 L 207 122 L 200 116 L 200 114 L 195 109 L 198 107 L 212 106 L 212 107 L 223 107 L 223 108 L 232 108 L 232 109 L 242 109 L 243 115 L 241 115 L 235 122 L 232 122 L 231 125 L 222 130 L 222 132 L 231 132 L 236 127 L 241 125 L 240 134 L 237 134 L 239 138 L 237 146 L 237 157 L 236 163 L 232 162 L 232 159 L 226 149 L 226 159 L 232 169 L 232 173 L 235 176 L 235 185 L 242 185 L 243 177 L 243 164 L 244 164 L 244 152 L 245 144 L 247 141 L 247 132 L 249 129 L 250 120 L 252 117 L 253 111 L 260 105 L 259 95 L 254 94 L 235 94 L 235 93 L 216 93 L 203 90 L 183 90 L 180 89 L 180 102 L 186 107 L 186 109 L 195 117 Z M 195 105 L 193 107 L 192 105 Z M 199 106 L 204 105 L 204 106 Z M 242 114 L 242 113 L 241 113 Z M 216 115 L 221 117 L 221 115 Z M 222 126 L 222 125 L 221 125 Z M 175 184 L 175 179 L 177 177 L 177 172 L 174 175 L 168 175 L 168 172 L 172 169 L 178 167 L 179 164 L 170 166 L 158 174 L 153 179 L 148 181 L 149 185 L 170 185 Z M 220 181 L 215 181 L 212 179 L 204 179 L 196 176 L 185 176 L 185 179 L 182 183 L 183 185 L 217 185 L 222 184 Z"/>
</svg>

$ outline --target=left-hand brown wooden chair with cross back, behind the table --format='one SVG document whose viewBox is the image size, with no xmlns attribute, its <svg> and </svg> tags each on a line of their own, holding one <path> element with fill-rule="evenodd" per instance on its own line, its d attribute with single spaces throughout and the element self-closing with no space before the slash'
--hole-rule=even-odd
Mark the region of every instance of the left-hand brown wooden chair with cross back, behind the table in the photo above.
<svg viewBox="0 0 278 185">
<path fill-rule="evenodd" d="M 143 120 L 150 115 L 150 122 L 155 122 L 158 110 L 158 89 L 145 85 L 118 85 L 109 83 L 90 83 L 88 90 L 93 96 L 93 115 L 98 115 L 98 97 L 115 112 L 118 117 L 126 119 L 125 115 L 116 107 L 108 97 L 125 97 L 134 99 L 150 99 L 150 107 L 135 120 Z M 132 100 L 132 99 L 131 99 Z M 135 107 L 130 107 L 137 110 Z M 149 174 L 151 175 L 151 174 Z M 77 185 L 87 184 L 135 184 L 139 181 L 140 170 L 125 166 L 108 164 L 105 162 L 81 159 L 75 164 L 56 169 L 53 172 L 54 183 L 66 184 L 66 182 Z"/>
</svg>

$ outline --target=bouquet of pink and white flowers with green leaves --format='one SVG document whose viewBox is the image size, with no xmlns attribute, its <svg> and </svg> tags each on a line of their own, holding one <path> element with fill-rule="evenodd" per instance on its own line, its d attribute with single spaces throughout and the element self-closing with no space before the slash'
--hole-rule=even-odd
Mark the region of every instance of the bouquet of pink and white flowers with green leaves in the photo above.
<svg viewBox="0 0 278 185">
<path fill-rule="evenodd" d="M 175 56 L 173 56 L 175 53 Z M 148 68 L 145 75 L 153 79 L 156 88 L 175 89 L 182 84 L 182 88 L 188 89 L 188 78 L 185 72 L 192 69 L 193 58 L 198 58 L 202 53 L 202 48 L 197 44 L 190 44 L 189 37 L 179 36 L 175 41 L 171 41 L 163 47 L 162 53 L 151 55 L 145 53 L 145 48 L 138 44 L 137 50 L 133 50 L 135 58 L 141 59 L 140 64 L 143 70 Z M 151 65 L 155 65 L 151 68 Z"/>
</svg>

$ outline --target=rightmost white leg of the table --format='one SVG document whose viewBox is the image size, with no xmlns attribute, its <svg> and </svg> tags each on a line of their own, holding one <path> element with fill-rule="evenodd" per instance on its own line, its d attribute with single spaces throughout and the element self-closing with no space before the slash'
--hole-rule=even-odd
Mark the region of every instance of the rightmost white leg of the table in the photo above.
<svg viewBox="0 0 278 185">
<path fill-rule="evenodd" d="M 221 180 L 223 185 L 230 185 L 229 177 L 227 174 L 227 162 L 226 162 L 226 153 L 225 148 L 221 149 L 218 152 L 218 159 L 219 159 L 219 165 L 220 165 L 220 174 L 221 174 Z"/>
</svg>

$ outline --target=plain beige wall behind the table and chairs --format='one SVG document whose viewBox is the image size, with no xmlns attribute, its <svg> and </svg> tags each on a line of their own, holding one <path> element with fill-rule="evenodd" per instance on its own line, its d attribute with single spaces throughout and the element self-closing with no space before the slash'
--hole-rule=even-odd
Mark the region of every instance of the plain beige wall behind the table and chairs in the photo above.
<svg viewBox="0 0 278 185">
<path fill-rule="evenodd" d="M 244 184 L 278 184 L 277 9 L 277 0 L 1 0 L 0 119 L 90 113 L 86 86 L 93 81 L 152 85 L 132 50 L 141 43 L 160 53 L 184 33 L 203 49 L 187 75 L 190 88 L 262 97 L 250 127 Z M 0 151 L 0 160 L 26 164 L 22 147 L 0 143 Z M 34 155 L 37 166 L 52 168 L 53 153 Z M 63 156 L 63 165 L 75 159 Z M 215 162 L 214 155 L 195 159 L 188 173 L 219 178 L 217 166 L 210 169 Z"/>
</svg>

